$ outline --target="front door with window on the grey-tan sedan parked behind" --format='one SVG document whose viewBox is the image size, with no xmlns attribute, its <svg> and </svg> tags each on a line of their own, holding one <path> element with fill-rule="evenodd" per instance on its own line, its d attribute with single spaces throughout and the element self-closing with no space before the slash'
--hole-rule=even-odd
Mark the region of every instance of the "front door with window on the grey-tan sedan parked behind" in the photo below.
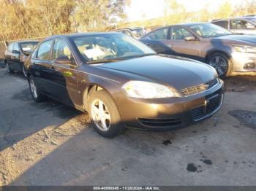
<svg viewBox="0 0 256 191">
<path fill-rule="evenodd" d="M 194 36 L 195 40 L 187 41 L 186 37 Z M 196 36 L 181 26 L 174 26 L 170 28 L 170 41 L 168 46 L 172 48 L 176 55 L 192 58 L 195 60 L 203 60 L 200 57 L 201 43 Z"/>
</svg>

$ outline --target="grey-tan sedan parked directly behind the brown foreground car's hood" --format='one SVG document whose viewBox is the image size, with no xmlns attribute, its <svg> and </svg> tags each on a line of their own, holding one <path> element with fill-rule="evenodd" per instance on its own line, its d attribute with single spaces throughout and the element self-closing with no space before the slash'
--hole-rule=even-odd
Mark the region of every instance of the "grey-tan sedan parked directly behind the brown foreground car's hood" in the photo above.
<svg viewBox="0 0 256 191">
<path fill-rule="evenodd" d="M 155 51 L 213 66 L 219 77 L 256 71 L 256 36 L 232 35 L 211 23 L 167 26 L 140 38 Z"/>
</svg>

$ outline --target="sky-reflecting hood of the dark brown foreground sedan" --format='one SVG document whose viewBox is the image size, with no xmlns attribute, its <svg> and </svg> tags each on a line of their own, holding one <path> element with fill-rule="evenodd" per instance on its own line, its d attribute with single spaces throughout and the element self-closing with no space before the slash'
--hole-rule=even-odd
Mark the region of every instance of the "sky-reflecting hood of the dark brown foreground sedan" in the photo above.
<svg viewBox="0 0 256 191">
<path fill-rule="evenodd" d="M 205 63 L 187 58 L 150 55 L 125 61 L 104 63 L 97 67 L 122 72 L 131 80 L 148 79 L 181 90 L 185 87 L 200 85 L 216 78 L 216 72 Z M 138 77 L 138 79 L 134 79 Z"/>
</svg>

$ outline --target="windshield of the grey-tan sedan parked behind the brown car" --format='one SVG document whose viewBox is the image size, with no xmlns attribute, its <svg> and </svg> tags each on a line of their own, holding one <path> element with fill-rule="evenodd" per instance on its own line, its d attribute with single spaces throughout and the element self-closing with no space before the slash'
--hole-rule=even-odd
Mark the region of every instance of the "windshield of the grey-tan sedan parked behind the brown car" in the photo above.
<svg viewBox="0 0 256 191">
<path fill-rule="evenodd" d="M 225 28 L 216 26 L 211 23 L 201 23 L 189 26 L 189 28 L 194 31 L 196 34 L 202 36 L 203 38 L 212 38 L 217 36 L 230 35 L 230 31 L 227 31 Z"/>
</svg>

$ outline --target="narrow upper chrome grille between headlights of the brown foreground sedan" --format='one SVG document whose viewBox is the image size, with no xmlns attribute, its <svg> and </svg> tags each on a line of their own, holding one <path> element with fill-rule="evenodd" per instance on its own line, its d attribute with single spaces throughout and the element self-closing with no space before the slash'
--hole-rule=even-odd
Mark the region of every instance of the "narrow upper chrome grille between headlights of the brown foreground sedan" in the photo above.
<svg viewBox="0 0 256 191">
<path fill-rule="evenodd" d="M 206 83 L 201 84 L 201 85 L 195 85 L 195 86 L 192 86 L 192 87 L 184 88 L 184 89 L 181 90 L 181 93 L 185 97 L 187 97 L 189 95 L 195 95 L 197 93 L 201 93 L 201 92 L 203 92 L 205 90 L 208 90 L 211 87 L 214 87 L 218 83 L 219 83 L 219 79 L 215 78 L 215 79 L 212 79 L 211 81 L 206 82 Z"/>
</svg>

